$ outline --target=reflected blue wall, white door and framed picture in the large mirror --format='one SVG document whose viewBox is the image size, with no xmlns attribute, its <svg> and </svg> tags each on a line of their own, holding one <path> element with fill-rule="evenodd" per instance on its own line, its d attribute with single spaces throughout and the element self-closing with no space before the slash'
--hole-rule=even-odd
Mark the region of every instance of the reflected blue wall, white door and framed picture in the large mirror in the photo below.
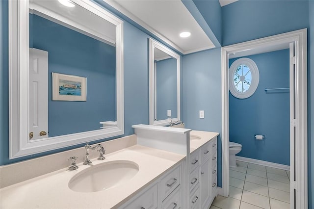
<svg viewBox="0 0 314 209">
<path fill-rule="evenodd" d="M 58 5 L 58 1 L 42 0 L 32 1 L 31 6 L 38 4 L 49 7 L 50 11 L 59 7 L 66 8 Z M 82 14 L 88 14 L 88 11 L 79 5 L 75 5 L 72 10 L 75 10 L 74 13 L 80 13 L 78 17 L 73 15 L 76 20 Z M 93 131 L 102 127 L 100 122 L 116 121 L 114 43 L 109 45 L 101 41 L 101 38 L 97 40 L 80 33 L 77 28 L 71 29 L 69 26 L 63 26 L 64 24 L 57 24 L 55 19 L 44 16 L 35 9 L 30 11 L 32 13 L 29 14 L 29 131 L 33 132 L 31 139 Z M 67 18 L 71 16 L 67 15 Z M 91 18 L 100 23 L 106 22 L 96 15 L 92 15 Z M 112 24 L 102 25 L 108 25 L 109 31 L 115 31 Z M 90 24 L 90 27 L 93 27 L 93 24 Z M 115 37 L 113 38 L 115 40 Z M 52 74 L 55 73 L 62 76 L 52 79 Z M 85 82 L 82 83 L 80 78 Z M 54 101 L 52 94 L 60 95 L 56 99 L 58 101 Z M 82 96 L 85 99 L 79 100 Z M 47 135 L 41 136 L 41 131 L 47 132 Z"/>
</svg>

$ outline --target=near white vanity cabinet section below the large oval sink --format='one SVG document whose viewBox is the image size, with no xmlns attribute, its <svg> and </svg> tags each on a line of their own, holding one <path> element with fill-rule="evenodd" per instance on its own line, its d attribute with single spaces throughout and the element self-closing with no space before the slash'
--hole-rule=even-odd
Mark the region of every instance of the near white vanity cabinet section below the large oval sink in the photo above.
<svg viewBox="0 0 314 209">
<path fill-rule="evenodd" d="M 119 209 L 180 209 L 182 205 L 181 173 L 180 163 Z"/>
</svg>

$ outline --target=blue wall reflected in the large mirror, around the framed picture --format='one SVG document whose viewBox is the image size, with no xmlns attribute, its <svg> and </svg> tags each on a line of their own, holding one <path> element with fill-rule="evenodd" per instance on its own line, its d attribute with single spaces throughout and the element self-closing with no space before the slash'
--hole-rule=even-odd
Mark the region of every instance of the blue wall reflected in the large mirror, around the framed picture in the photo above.
<svg viewBox="0 0 314 209">
<path fill-rule="evenodd" d="M 115 47 L 40 16 L 29 16 L 30 47 L 49 53 L 49 136 L 98 130 L 99 122 L 115 121 Z M 52 101 L 52 72 L 86 77 L 86 102 Z M 99 91 L 101 96 L 95 93 Z"/>
</svg>

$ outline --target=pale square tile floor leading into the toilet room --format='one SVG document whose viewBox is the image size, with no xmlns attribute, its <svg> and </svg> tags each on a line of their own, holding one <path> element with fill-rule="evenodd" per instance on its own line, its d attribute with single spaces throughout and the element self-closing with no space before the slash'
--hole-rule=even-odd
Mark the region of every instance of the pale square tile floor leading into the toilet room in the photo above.
<svg viewBox="0 0 314 209">
<path fill-rule="evenodd" d="M 230 168 L 230 195 L 210 209 L 290 209 L 290 172 L 236 161 Z"/>
</svg>

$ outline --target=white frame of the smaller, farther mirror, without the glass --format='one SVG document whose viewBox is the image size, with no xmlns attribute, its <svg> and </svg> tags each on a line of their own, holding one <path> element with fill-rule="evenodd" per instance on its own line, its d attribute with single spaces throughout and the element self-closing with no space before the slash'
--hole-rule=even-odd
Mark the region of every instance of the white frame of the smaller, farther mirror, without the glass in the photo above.
<svg viewBox="0 0 314 209">
<path fill-rule="evenodd" d="M 165 120 L 155 121 L 155 66 L 154 66 L 154 48 L 161 50 L 177 59 L 177 117 Z M 170 122 L 180 121 L 180 55 L 170 50 L 166 46 L 149 39 L 149 124 L 156 126 L 170 125 Z"/>
</svg>

